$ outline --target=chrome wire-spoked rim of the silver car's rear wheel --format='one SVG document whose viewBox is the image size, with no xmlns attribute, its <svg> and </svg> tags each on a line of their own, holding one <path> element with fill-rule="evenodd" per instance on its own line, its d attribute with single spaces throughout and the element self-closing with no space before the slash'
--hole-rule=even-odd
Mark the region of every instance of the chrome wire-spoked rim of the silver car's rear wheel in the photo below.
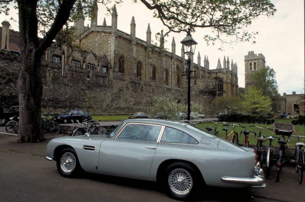
<svg viewBox="0 0 305 202">
<path fill-rule="evenodd" d="M 187 194 L 191 191 L 193 180 L 185 169 L 174 169 L 168 176 L 169 188 L 176 194 Z"/>
</svg>

